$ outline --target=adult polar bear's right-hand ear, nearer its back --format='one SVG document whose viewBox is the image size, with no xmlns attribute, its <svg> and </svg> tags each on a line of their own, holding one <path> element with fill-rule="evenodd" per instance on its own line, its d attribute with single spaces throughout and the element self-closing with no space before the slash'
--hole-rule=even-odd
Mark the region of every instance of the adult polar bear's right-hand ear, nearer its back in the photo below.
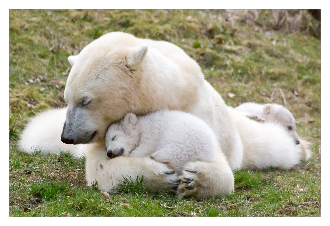
<svg viewBox="0 0 330 226">
<path fill-rule="evenodd" d="M 125 58 L 125 66 L 129 70 L 134 70 L 146 57 L 148 52 L 148 45 L 139 45 L 129 50 Z"/>
</svg>

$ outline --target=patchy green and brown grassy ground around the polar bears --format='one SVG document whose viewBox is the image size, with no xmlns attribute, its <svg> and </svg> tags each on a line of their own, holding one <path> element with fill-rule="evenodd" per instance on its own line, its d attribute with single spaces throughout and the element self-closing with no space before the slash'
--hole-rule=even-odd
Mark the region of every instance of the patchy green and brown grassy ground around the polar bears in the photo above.
<svg viewBox="0 0 330 226">
<path fill-rule="evenodd" d="M 110 31 L 182 47 L 228 105 L 286 104 L 298 134 L 312 142 L 311 159 L 290 170 L 241 170 L 234 174 L 232 195 L 197 202 L 150 192 L 139 183 L 106 198 L 86 187 L 83 158 L 19 152 L 16 141 L 26 119 L 65 106 L 67 57 Z M 319 22 L 307 11 L 11 10 L 10 215 L 320 215 L 318 38 Z"/>
</svg>

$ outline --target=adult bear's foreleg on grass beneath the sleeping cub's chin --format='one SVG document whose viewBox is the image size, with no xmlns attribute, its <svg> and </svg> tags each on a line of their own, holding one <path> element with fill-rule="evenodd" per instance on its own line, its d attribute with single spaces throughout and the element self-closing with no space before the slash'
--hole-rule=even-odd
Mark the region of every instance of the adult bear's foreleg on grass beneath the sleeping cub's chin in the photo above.
<svg viewBox="0 0 330 226">
<path fill-rule="evenodd" d="M 179 183 L 178 175 L 165 164 L 149 157 L 119 156 L 110 159 L 103 149 L 86 151 L 86 180 L 91 186 L 95 181 L 103 191 L 116 191 L 124 178 L 133 181 L 142 175 L 143 182 L 153 191 L 173 191 Z"/>
</svg>

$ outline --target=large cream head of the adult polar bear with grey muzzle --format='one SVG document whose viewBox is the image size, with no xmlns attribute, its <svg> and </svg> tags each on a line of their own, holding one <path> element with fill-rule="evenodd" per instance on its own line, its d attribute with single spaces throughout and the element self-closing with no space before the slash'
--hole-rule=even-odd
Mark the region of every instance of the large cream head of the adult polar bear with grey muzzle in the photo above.
<svg viewBox="0 0 330 226">
<path fill-rule="evenodd" d="M 148 51 L 132 35 L 113 32 L 68 58 L 72 69 L 64 90 L 66 144 L 104 142 L 109 125 L 143 107 L 140 83 Z"/>
</svg>

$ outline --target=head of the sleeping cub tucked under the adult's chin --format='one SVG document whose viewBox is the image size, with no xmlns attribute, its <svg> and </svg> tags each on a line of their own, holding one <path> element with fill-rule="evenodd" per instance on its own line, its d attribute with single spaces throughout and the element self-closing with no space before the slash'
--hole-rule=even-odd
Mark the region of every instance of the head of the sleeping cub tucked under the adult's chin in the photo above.
<svg viewBox="0 0 330 226">
<path fill-rule="evenodd" d="M 112 124 L 106 133 L 105 145 L 107 156 L 114 158 L 120 155 L 129 155 L 138 145 L 140 133 L 137 125 L 137 117 L 128 113 L 124 119 Z"/>
</svg>

